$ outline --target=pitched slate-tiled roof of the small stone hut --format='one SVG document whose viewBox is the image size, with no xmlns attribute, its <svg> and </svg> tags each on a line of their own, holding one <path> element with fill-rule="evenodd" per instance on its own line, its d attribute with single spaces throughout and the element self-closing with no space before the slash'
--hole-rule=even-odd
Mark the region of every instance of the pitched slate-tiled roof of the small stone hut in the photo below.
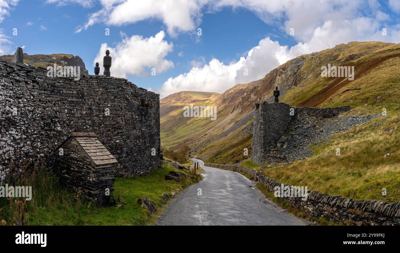
<svg viewBox="0 0 400 253">
<path fill-rule="evenodd" d="M 102 143 L 100 143 L 95 133 L 72 132 L 70 137 L 68 137 L 64 143 L 57 148 L 57 150 L 68 143 L 71 139 L 75 139 L 79 143 L 95 166 L 118 163 L 115 157 L 106 149 L 106 147 L 104 147 Z"/>
</svg>

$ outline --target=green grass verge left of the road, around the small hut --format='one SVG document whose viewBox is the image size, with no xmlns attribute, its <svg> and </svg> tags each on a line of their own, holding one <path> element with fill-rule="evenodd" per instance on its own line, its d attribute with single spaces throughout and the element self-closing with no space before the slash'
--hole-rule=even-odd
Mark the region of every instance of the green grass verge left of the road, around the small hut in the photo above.
<svg viewBox="0 0 400 253">
<path fill-rule="evenodd" d="M 15 185 L 32 185 L 32 200 L 24 198 L 0 198 L 0 223 L 2 225 L 152 225 L 171 199 L 164 201 L 162 193 L 182 192 L 201 180 L 199 174 L 191 179 L 166 181 L 169 171 L 180 171 L 170 165 L 162 165 L 156 171 L 129 179 L 116 178 L 114 197 L 123 207 L 97 207 L 75 193 L 65 191 L 58 178 L 43 167 L 35 167 L 31 176 L 15 182 Z M 187 172 L 190 174 L 190 172 Z M 156 205 L 155 215 L 142 208 L 137 200 L 148 197 Z"/>
</svg>

